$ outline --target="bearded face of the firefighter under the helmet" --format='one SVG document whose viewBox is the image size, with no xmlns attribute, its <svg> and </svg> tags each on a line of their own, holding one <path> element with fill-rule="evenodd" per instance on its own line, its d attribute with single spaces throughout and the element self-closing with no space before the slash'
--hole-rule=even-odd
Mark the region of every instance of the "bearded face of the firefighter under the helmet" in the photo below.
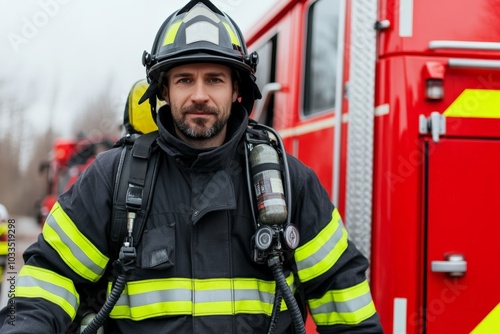
<svg viewBox="0 0 500 334">
<path fill-rule="evenodd" d="M 238 98 L 229 67 L 209 63 L 174 67 L 167 74 L 163 97 L 181 139 L 195 147 L 222 145 L 231 104 Z"/>
</svg>

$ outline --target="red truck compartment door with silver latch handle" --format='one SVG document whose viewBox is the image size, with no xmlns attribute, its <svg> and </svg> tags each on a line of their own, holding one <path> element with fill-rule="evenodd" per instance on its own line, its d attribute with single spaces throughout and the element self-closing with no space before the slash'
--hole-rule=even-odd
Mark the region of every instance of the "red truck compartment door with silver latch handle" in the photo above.
<svg viewBox="0 0 500 334">
<path fill-rule="evenodd" d="M 498 136 L 424 141 L 424 333 L 500 333 Z"/>
</svg>

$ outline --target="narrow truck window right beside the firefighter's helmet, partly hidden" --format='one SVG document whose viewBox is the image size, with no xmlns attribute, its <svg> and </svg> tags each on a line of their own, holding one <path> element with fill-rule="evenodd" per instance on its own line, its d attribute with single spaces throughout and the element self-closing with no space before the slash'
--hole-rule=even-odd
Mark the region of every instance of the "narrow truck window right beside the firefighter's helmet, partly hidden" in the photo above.
<svg viewBox="0 0 500 334">
<path fill-rule="evenodd" d="M 276 81 L 276 44 L 278 36 L 274 35 L 256 51 L 259 54 L 259 65 L 257 66 L 257 85 L 260 91 L 264 86 L 270 82 Z M 271 97 L 269 104 L 265 110 L 262 111 L 261 116 L 256 121 L 273 126 L 274 116 L 274 96 Z"/>
</svg>

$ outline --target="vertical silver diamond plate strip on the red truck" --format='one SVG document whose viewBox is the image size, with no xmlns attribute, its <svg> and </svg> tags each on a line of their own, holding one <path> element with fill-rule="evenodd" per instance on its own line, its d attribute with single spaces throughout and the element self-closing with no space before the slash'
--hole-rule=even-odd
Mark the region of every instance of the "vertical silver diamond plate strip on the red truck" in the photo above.
<svg viewBox="0 0 500 334">
<path fill-rule="evenodd" d="M 377 1 L 351 3 L 346 226 L 370 259 Z"/>
</svg>

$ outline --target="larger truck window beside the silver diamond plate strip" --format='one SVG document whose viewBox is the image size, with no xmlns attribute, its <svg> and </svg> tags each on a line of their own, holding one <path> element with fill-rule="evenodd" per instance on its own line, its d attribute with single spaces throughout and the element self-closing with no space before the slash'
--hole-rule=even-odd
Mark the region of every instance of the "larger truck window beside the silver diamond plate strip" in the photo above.
<svg viewBox="0 0 500 334">
<path fill-rule="evenodd" d="M 340 1 L 318 0 L 309 7 L 303 107 L 305 116 L 335 107 Z"/>
</svg>

